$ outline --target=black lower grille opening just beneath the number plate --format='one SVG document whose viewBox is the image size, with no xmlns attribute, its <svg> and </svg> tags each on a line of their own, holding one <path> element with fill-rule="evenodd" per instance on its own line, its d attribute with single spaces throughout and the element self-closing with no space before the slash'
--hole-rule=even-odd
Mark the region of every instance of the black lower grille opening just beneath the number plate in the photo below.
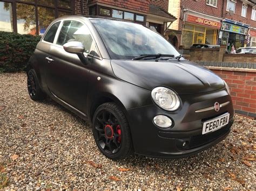
<svg viewBox="0 0 256 191">
<path fill-rule="evenodd" d="M 192 136 L 190 139 L 189 149 L 210 143 L 213 140 L 226 134 L 228 130 L 230 130 L 230 126 L 226 125 L 224 128 L 208 133 L 206 135 Z"/>
</svg>

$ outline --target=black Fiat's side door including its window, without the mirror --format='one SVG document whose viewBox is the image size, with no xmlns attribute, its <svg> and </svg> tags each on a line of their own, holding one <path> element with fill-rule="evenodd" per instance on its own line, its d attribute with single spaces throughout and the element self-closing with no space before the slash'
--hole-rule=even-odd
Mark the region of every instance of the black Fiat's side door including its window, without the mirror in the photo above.
<svg viewBox="0 0 256 191">
<path fill-rule="evenodd" d="M 46 57 L 47 86 L 60 101 L 85 114 L 87 81 L 96 44 L 88 27 L 77 20 L 63 20 L 58 30 L 58 37 L 49 49 Z M 63 45 L 70 41 L 79 41 L 85 47 L 87 65 L 81 62 L 77 54 L 64 50 Z"/>
</svg>

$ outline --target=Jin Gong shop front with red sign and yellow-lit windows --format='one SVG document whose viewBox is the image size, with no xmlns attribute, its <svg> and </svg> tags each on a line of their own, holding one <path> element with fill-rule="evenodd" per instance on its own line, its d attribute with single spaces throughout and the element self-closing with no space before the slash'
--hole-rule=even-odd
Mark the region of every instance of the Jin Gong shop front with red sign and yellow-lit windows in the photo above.
<svg viewBox="0 0 256 191">
<path fill-rule="evenodd" d="M 193 44 L 216 45 L 220 20 L 211 16 L 187 13 L 181 34 L 181 45 L 184 48 L 190 48 Z"/>
</svg>

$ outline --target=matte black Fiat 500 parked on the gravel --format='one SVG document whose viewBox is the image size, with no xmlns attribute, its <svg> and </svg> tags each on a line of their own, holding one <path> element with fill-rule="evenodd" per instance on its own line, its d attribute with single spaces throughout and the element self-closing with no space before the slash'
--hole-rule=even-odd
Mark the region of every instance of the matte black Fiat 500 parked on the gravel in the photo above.
<svg viewBox="0 0 256 191">
<path fill-rule="evenodd" d="M 134 152 L 180 158 L 206 150 L 231 131 L 227 84 L 143 25 L 56 19 L 27 74 L 32 100 L 48 95 L 89 121 L 99 150 L 114 160 Z"/>
</svg>

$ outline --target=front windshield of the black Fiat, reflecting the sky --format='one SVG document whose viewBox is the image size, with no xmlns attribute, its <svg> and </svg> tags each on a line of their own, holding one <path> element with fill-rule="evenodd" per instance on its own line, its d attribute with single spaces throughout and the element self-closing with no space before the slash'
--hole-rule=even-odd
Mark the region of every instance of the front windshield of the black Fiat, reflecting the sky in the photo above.
<svg viewBox="0 0 256 191">
<path fill-rule="evenodd" d="M 118 20 L 92 19 L 111 59 L 131 60 L 145 54 L 180 55 L 160 34 L 143 25 Z"/>
</svg>

